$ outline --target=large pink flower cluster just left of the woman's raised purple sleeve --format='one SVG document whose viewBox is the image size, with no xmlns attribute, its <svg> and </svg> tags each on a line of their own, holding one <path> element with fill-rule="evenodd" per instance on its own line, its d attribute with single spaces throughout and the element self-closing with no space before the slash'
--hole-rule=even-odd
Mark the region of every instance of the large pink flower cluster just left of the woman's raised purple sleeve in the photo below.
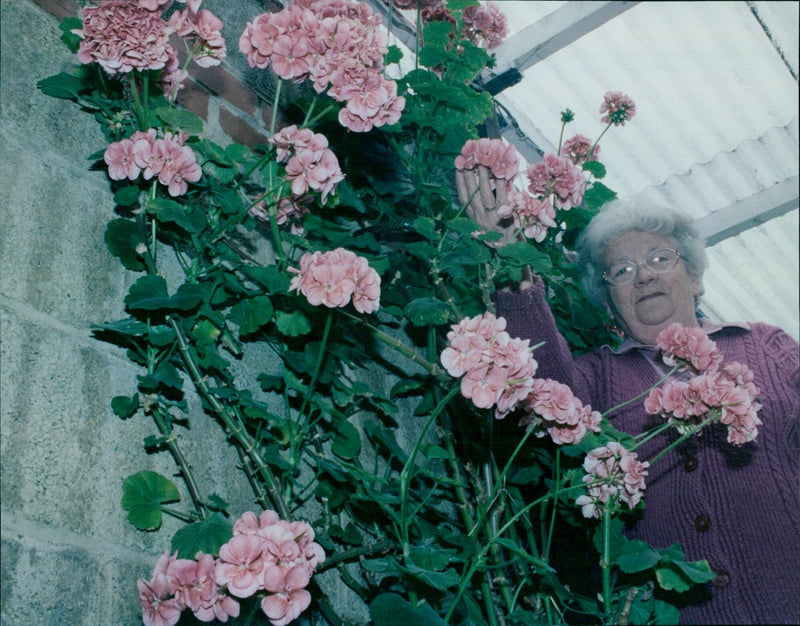
<svg viewBox="0 0 800 626">
<path fill-rule="evenodd" d="M 506 320 L 488 311 L 451 326 L 440 360 L 461 379 L 461 393 L 481 409 L 496 406 L 502 419 L 528 397 L 537 363 L 528 340 L 512 338 Z"/>
</svg>

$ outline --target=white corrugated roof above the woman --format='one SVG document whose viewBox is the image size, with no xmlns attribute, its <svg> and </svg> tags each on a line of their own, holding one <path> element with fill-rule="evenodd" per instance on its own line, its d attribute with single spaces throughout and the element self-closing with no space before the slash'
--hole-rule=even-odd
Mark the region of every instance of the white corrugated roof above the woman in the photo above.
<svg viewBox="0 0 800 626">
<path fill-rule="evenodd" d="M 569 107 L 575 121 L 564 137 L 594 139 L 604 128 L 603 94 L 628 94 L 636 116 L 603 137 L 604 182 L 620 196 L 682 209 L 707 228 L 746 211 L 734 231 L 745 230 L 709 248 L 701 308 L 718 320 L 773 323 L 797 338 L 800 4 L 495 4 L 510 29 L 495 50 L 495 72 L 517 61 L 523 75 L 496 96 L 525 138 L 512 126 L 505 136 L 523 154 L 530 142 L 554 152 Z M 519 63 L 526 46 L 530 67 Z M 768 195 L 776 185 L 779 201 Z"/>
</svg>

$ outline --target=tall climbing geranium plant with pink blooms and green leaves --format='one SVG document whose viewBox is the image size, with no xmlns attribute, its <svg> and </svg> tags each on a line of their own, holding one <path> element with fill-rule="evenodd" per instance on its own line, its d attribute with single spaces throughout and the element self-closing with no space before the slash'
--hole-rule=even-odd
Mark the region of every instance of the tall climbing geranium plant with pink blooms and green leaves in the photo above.
<svg viewBox="0 0 800 626">
<path fill-rule="evenodd" d="M 128 316 L 95 332 L 141 368 L 111 406 L 152 419 L 145 446 L 172 455 L 190 497 L 176 508 L 177 486 L 152 471 L 123 485 L 138 529 L 157 531 L 164 514 L 186 522 L 139 580 L 144 623 L 192 614 L 280 626 L 312 612 L 343 623 L 316 577 L 331 570 L 377 625 L 674 618 L 645 588 L 684 591 L 713 576 L 707 563 L 621 532 L 657 459 L 638 459 L 638 441 L 606 415 L 536 378 L 536 346 L 493 313 L 491 293 L 530 268 L 576 352 L 613 339 L 570 254 L 614 196 L 597 141 L 575 135 L 520 172 L 511 146 L 478 132 L 493 103 L 475 81 L 505 33 L 502 13 L 395 2 L 420 8 L 415 69 L 396 80 L 386 69 L 403 53 L 364 3 L 292 0 L 259 15 L 241 25 L 238 51 L 278 88 L 269 142 L 250 148 L 214 143 L 176 104 L 188 63 L 230 54 L 200 4 L 87 6 L 62 25 L 81 65 L 40 83 L 107 137 L 90 156 L 114 190 L 105 244 L 138 278 Z M 285 81 L 305 85 L 292 102 Z M 606 94 L 601 136 L 634 113 L 628 96 Z M 482 230 L 457 198 L 455 170 L 478 166 L 507 191 L 498 211 L 511 239 Z M 263 241 L 267 258 L 251 253 Z M 698 338 L 671 331 L 663 343 L 678 368 Z M 233 364 L 255 344 L 274 359 L 248 389 Z M 746 368 L 709 354 L 689 359 L 701 382 L 653 391 L 648 410 L 682 438 L 722 421 L 732 443 L 752 439 Z M 366 382 L 376 376 L 388 393 Z M 189 410 L 187 385 L 202 411 Z M 186 458 L 181 441 L 201 419 L 238 452 L 249 509 L 195 479 L 202 458 Z M 510 452 L 482 445 L 500 423 L 515 428 Z M 599 598 L 561 580 L 559 525 L 594 535 Z"/>
</svg>

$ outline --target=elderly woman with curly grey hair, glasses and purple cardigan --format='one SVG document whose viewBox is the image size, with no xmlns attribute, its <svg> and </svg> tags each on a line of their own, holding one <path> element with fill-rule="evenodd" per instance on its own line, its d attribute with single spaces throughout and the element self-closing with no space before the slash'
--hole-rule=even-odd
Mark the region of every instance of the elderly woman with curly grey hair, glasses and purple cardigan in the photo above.
<svg viewBox="0 0 800 626">
<path fill-rule="evenodd" d="M 688 560 L 707 559 L 716 572 L 682 607 L 682 623 L 800 623 L 797 342 L 766 324 L 698 318 L 704 243 L 679 213 L 614 203 L 586 228 L 578 253 L 587 295 L 605 306 L 624 340 L 573 358 L 545 286 L 533 276 L 494 298 L 512 336 L 546 342 L 536 351 L 537 376 L 570 385 L 582 401 L 605 411 L 667 372 L 655 338 L 679 322 L 705 330 L 725 361 L 747 364 L 763 405 L 757 441 L 735 447 L 723 426 L 707 427 L 652 465 L 645 510 L 629 537 L 656 548 L 680 542 Z M 636 435 L 659 418 L 637 402 L 609 419 Z M 643 445 L 639 458 L 651 458 L 674 436 L 664 433 Z"/>
</svg>

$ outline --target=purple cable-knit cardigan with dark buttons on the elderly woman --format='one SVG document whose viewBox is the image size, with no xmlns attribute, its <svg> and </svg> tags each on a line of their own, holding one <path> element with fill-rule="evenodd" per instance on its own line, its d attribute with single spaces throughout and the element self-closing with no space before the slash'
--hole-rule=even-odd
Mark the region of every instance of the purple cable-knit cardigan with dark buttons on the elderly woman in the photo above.
<svg viewBox="0 0 800 626">
<path fill-rule="evenodd" d="M 594 409 L 617 406 L 659 379 L 644 349 L 603 347 L 573 359 L 538 277 L 521 292 L 497 292 L 494 301 L 512 337 L 546 342 L 534 353 L 536 376 L 570 385 Z M 763 405 L 757 441 L 732 446 L 716 425 L 659 459 L 647 476 L 643 517 L 628 536 L 654 548 L 679 542 L 687 560 L 707 559 L 717 572 L 703 597 L 681 609 L 681 624 L 800 624 L 798 344 L 766 324 L 725 327 L 711 337 L 724 361 L 754 373 Z M 643 402 L 608 417 L 633 435 L 658 419 Z M 674 436 L 642 446 L 639 458 L 652 458 Z"/>
</svg>

